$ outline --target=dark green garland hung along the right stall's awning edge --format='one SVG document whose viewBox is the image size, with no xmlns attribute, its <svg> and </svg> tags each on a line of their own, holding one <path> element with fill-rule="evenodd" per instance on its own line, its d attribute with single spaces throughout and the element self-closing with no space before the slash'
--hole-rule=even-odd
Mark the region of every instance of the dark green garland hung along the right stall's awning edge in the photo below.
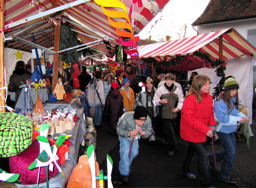
<svg viewBox="0 0 256 188">
<path fill-rule="evenodd" d="M 219 84 L 214 88 L 214 95 L 218 96 L 222 91 L 224 87 L 225 82 L 225 70 L 226 70 L 226 62 L 216 59 L 215 61 L 212 60 L 210 57 L 211 55 L 206 53 L 203 53 L 200 49 L 193 53 L 194 56 L 200 57 L 202 60 L 204 59 L 205 62 L 209 62 L 212 64 L 213 68 L 216 68 L 216 76 L 222 77 Z M 147 64 L 153 64 L 155 67 L 171 67 L 176 66 L 178 63 L 180 63 L 182 60 L 184 60 L 184 56 L 176 56 L 176 58 L 171 58 L 170 61 L 157 61 L 155 58 L 151 59 L 143 59 L 144 63 Z"/>
</svg>

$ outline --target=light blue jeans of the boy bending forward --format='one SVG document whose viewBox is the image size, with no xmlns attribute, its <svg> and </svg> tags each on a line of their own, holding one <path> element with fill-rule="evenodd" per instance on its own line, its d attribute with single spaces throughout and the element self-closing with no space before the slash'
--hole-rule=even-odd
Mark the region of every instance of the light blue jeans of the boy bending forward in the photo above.
<svg viewBox="0 0 256 188">
<path fill-rule="evenodd" d="M 127 138 L 122 138 L 121 136 L 118 136 L 120 141 L 120 161 L 119 161 L 119 172 L 122 175 L 129 175 L 129 167 L 132 163 L 132 160 L 138 155 L 139 153 L 139 142 L 138 139 L 136 140 L 134 138 L 134 141 L 132 143 L 132 140 L 129 140 Z M 129 156 L 129 150 L 132 143 L 132 149 Z"/>
</svg>

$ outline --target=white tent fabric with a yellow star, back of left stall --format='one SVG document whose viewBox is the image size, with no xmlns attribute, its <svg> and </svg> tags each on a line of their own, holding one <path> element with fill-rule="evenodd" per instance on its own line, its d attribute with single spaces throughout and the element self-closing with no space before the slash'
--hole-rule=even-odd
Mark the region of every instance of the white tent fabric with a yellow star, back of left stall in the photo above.
<svg viewBox="0 0 256 188">
<path fill-rule="evenodd" d="M 4 48 L 4 67 L 6 71 L 6 86 L 9 84 L 10 76 L 12 75 L 12 72 L 14 71 L 16 62 L 18 61 L 24 61 L 25 64 L 32 58 L 32 53 L 30 52 L 24 52 L 20 50 L 20 53 L 22 54 L 22 59 L 18 58 L 16 59 L 16 55 L 14 53 L 17 53 L 18 50 L 14 50 L 12 48 Z M 20 84 L 21 85 L 21 84 Z"/>
</svg>

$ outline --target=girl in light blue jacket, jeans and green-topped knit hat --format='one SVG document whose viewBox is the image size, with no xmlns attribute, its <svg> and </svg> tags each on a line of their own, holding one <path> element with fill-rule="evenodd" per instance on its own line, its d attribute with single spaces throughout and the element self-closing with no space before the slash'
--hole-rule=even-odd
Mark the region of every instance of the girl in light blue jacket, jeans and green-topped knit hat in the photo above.
<svg viewBox="0 0 256 188">
<path fill-rule="evenodd" d="M 236 137 L 234 132 L 236 132 L 239 124 L 249 121 L 248 117 L 238 110 L 238 89 L 238 82 L 234 78 L 228 78 L 224 84 L 224 92 L 220 94 L 214 104 L 214 116 L 219 123 L 216 132 L 224 148 L 222 151 L 215 152 L 216 162 L 223 160 L 219 179 L 229 184 L 236 184 L 236 180 L 230 178 L 236 156 Z M 207 155 L 208 166 L 214 168 L 213 154 Z"/>
</svg>

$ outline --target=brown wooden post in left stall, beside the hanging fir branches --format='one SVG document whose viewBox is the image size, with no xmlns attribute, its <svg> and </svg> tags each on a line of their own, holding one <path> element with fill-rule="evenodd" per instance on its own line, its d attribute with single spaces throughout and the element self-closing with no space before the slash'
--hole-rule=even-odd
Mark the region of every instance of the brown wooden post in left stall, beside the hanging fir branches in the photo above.
<svg viewBox="0 0 256 188">
<path fill-rule="evenodd" d="M 61 14 L 58 14 L 58 16 L 62 16 Z M 58 52 L 60 50 L 60 24 L 57 24 L 55 26 L 54 31 L 54 51 Z M 53 54 L 53 74 L 52 74 L 52 92 L 55 89 L 55 86 L 58 83 L 58 68 L 59 68 L 59 60 L 60 60 L 60 54 Z"/>
</svg>

